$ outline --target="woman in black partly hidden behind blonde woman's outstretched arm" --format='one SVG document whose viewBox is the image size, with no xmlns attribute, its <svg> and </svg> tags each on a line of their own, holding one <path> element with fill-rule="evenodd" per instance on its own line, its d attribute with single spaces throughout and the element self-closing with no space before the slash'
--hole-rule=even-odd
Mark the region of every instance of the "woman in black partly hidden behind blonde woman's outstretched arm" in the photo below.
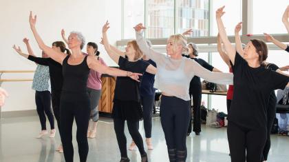
<svg viewBox="0 0 289 162">
<path fill-rule="evenodd" d="M 212 65 L 208 64 L 203 59 L 197 58 L 199 54 L 199 49 L 197 48 L 197 45 L 195 43 L 188 43 L 189 48 L 189 58 L 195 60 L 197 63 L 202 65 L 202 67 L 206 68 L 206 70 L 210 70 L 211 72 L 221 72 L 217 68 L 214 68 Z M 195 132 L 195 135 L 200 135 L 201 132 L 201 101 L 202 101 L 202 84 L 200 77 L 193 77 L 190 82 L 190 88 L 189 88 L 189 95 L 192 102 L 192 96 L 193 96 L 193 132 Z M 190 109 L 191 110 L 191 109 Z M 190 113 L 191 114 L 191 113 Z M 191 121 L 189 123 L 189 128 L 187 132 L 187 136 L 189 136 L 192 132 L 192 117 Z"/>
</svg>

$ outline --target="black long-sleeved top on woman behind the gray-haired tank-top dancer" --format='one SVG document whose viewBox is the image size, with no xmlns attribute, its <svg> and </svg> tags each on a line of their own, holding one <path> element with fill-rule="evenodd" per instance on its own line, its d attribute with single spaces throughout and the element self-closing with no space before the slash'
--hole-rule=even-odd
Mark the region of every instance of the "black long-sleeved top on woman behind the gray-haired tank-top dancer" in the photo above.
<svg viewBox="0 0 289 162">
<path fill-rule="evenodd" d="M 28 59 L 39 65 L 47 65 L 49 67 L 51 91 L 52 93 L 61 94 L 63 85 L 62 65 L 51 58 L 33 57 L 29 55 Z"/>
</svg>

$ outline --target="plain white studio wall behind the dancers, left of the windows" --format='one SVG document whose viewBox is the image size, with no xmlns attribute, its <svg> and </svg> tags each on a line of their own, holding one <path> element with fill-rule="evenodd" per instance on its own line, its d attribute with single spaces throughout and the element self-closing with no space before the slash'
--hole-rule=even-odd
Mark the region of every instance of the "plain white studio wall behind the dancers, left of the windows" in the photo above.
<svg viewBox="0 0 289 162">
<path fill-rule="evenodd" d="M 102 36 L 102 27 L 109 20 L 109 40 L 114 44 L 121 39 L 121 1 L 115 0 L 0 0 L 0 70 L 35 70 L 32 61 L 19 56 L 14 52 L 12 45 L 21 47 L 27 52 L 22 39 L 27 37 L 34 50 L 34 54 L 41 57 L 39 49 L 29 25 L 29 14 L 32 10 L 37 15 L 36 28 L 43 41 L 51 45 L 54 41 L 62 41 L 61 29 L 64 28 L 68 37 L 69 32 L 79 31 L 85 36 L 86 43 L 94 41 L 98 44 L 100 57 L 107 65 L 116 65 L 106 54 L 99 43 Z M 86 46 L 83 48 L 86 52 Z M 33 73 L 2 74 L 1 79 L 32 79 Z M 8 90 L 10 96 L 2 112 L 18 110 L 34 110 L 34 90 L 32 81 L 3 82 L 1 87 Z"/>
</svg>

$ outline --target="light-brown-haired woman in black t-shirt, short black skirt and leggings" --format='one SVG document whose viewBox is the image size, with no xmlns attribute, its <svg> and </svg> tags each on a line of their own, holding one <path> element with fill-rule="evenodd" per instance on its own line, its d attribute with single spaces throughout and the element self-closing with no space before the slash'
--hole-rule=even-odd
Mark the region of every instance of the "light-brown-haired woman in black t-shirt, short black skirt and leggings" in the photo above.
<svg viewBox="0 0 289 162">
<path fill-rule="evenodd" d="M 107 30 L 109 23 L 103 26 L 103 45 L 109 54 L 109 57 L 118 63 L 121 70 L 130 70 L 131 72 L 144 73 L 149 72 L 156 74 L 156 68 L 143 61 L 142 52 L 138 48 L 136 41 L 129 41 L 125 52 L 121 52 L 112 45 L 109 45 L 107 39 Z M 127 57 L 127 58 L 126 58 Z M 141 81 L 142 77 L 140 77 Z M 148 161 L 147 153 L 144 151 L 142 136 L 138 132 L 138 121 L 142 119 L 142 108 L 140 105 L 140 82 L 133 81 L 128 77 L 117 77 L 116 88 L 114 90 L 114 108 L 112 109 L 112 117 L 114 118 L 114 130 L 118 147 L 120 148 L 120 162 L 130 161 L 127 157 L 127 139 L 125 137 L 125 121 L 131 138 L 138 146 L 142 162 Z"/>
</svg>

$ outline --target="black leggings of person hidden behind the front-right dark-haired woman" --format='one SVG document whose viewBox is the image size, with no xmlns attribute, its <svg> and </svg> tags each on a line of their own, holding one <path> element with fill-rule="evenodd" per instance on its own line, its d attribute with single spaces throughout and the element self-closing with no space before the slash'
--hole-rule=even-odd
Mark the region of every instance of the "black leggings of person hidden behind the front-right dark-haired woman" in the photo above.
<svg viewBox="0 0 289 162">
<path fill-rule="evenodd" d="M 270 99 L 267 108 L 267 140 L 263 150 L 263 156 L 261 161 L 267 161 L 268 159 L 268 153 L 271 147 L 270 132 L 272 129 L 272 125 L 274 123 L 274 119 L 276 117 L 276 103 L 277 103 L 276 95 L 275 92 L 273 92 L 273 94 L 270 94 Z"/>
</svg>

